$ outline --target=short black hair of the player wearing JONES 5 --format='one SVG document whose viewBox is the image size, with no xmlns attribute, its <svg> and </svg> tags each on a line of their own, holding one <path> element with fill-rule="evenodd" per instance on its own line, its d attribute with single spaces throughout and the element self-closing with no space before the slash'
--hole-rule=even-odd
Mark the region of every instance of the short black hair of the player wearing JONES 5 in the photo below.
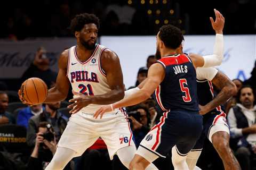
<svg viewBox="0 0 256 170">
<path fill-rule="evenodd" d="M 180 46 L 184 37 L 179 28 L 173 25 L 163 25 L 159 30 L 159 38 L 167 48 L 176 49 Z"/>
</svg>

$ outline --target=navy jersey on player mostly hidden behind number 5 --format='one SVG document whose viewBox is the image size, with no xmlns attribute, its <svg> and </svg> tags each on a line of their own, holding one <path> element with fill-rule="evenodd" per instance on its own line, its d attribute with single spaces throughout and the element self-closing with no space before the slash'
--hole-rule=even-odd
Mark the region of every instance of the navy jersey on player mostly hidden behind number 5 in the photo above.
<svg viewBox="0 0 256 170">
<path fill-rule="evenodd" d="M 197 96 L 199 104 L 202 106 L 212 101 L 212 99 L 215 97 L 212 82 L 209 80 L 197 80 Z M 224 116 L 225 113 L 222 111 L 221 106 L 218 106 L 214 108 L 209 114 L 221 114 Z M 204 119 L 207 118 L 209 114 L 207 113 L 203 115 Z"/>
</svg>

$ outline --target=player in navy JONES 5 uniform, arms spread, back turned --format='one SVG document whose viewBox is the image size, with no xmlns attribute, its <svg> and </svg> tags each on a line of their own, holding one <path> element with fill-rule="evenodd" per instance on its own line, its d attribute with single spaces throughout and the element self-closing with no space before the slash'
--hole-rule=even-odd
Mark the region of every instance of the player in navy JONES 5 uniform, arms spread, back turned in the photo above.
<svg viewBox="0 0 256 170">
<path fill-rule="evenodd" d="M 217 33 L 214 55 L 183 54 L 184 38 L 180 29 L 164 25 L 157 33 L 156 57 L 159 60 L 150 66 L 145 85 L 131 96 L 103 106 L 94 114 L 97 118 L 115 108 L 141 103 L 155 91 L 157 103 L 164 113 L 140 143 L 129 169 L 145 169 L 158 157 L 165 157 L 170 150 L 174 169 L 188 169 L 186 155 L 203 130 L 202 115 L 198 114 L 195 68 L 219 65 L 223 58 L 222 30 L 225 21 L 219 11 L 214 12 L 215 22 L 211 18 Z"/>
</svg>

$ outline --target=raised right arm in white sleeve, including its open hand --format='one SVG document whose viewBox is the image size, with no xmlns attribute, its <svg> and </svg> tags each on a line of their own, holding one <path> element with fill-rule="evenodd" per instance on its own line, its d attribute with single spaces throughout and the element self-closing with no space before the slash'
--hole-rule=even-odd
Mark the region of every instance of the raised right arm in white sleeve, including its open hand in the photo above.
<svg viewBox="0 0 256 170">
<path fill-rule="evenodd" d="M 216 33 L 215 37 L 215 45 L 213 50 L 213 55 L 201 56 L 197 54 L 189 54 L 191 60 L 195 67 L 211 67 L 220 65 L 223 60 L 223 28 L 225 23 L 225 18 L 222 14 L 214 9 L 214 13 L 216 16 L 215 21 L 212 18 L 211 24 L 212 28 Z"/>
</svg>

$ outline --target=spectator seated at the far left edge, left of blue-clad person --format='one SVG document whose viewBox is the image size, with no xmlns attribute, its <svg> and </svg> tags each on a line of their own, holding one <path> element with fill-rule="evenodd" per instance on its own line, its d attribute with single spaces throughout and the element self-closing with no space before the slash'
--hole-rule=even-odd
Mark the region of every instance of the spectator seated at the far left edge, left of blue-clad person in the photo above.
<svg viewBox="0 0 256 170">
<path fill-rule="evenodd" d="M 8 107 L 9 98 L 6 92 L 0 91 L 0 125 L 1 124 L 15 124 L 14 116 L 6 112 Z"/>
</svg>

